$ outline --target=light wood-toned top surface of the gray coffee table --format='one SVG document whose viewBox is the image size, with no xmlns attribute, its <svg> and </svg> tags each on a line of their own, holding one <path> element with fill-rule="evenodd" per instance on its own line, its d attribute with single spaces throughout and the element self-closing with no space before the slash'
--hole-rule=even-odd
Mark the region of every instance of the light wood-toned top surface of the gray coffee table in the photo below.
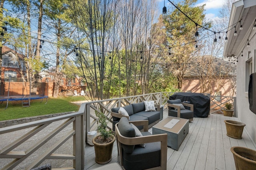
<svg viewBox="0 0 256 170">
<path fill-rule="evenodd" d="M 180 121 L 178 121 L 178 123 L 176 123 L 176 125 L 174 125 L 174 127 L 172 127 L 171 129 L 168 127 L 164 127 L 164 125 L 166 125 L 172 119 L 179 119 Z M 162 129 L 164 131 L 173 132 L 173 133 L 179 133 L 179 131 L 187 122 L 188 122 L 188 119 L 168 116 L 162 121 L 160 121 L 159 123 L 157 123 L 156 125 L 154 125 L 152 128 Z"/>
</svg>

